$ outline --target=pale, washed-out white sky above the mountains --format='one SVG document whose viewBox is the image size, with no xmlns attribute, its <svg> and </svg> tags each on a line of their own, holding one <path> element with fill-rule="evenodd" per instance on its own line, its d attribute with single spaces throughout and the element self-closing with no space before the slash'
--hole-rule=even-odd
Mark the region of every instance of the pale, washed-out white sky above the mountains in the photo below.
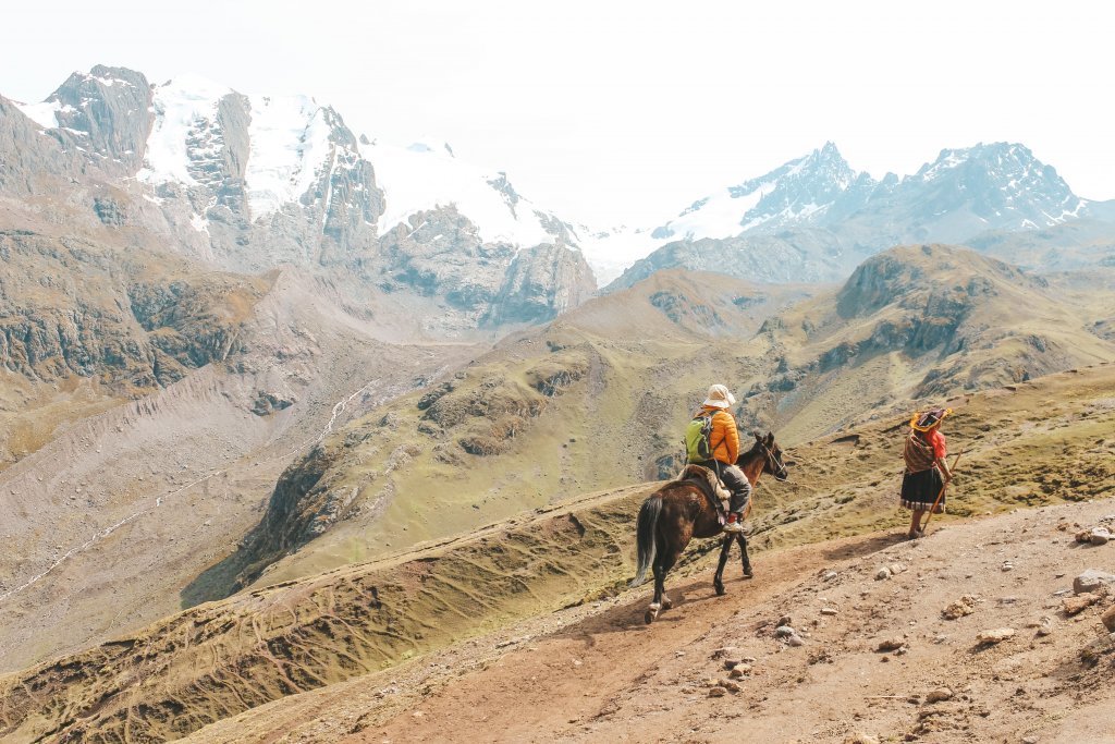
<svg viewBox="0 0 1115 744">
<path fill-rule="evenodd" d="M 0 94 L 95 64 L 307 93 L 349 126 L 448 141 L 535 203 L 660 224 L 833 141 L 875 177 L 1011 141 L 1115 199 L 1115 10 L 1101 2 L 6 3 Z"/>
</svg>

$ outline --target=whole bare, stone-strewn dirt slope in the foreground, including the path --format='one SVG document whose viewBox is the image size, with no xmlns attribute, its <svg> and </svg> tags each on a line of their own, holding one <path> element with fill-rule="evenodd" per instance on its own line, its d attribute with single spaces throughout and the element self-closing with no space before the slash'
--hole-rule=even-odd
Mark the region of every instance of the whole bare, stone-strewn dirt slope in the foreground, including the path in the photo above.
<svg viewBox="0 0 1115 744">
<path fill-rule="evenodd" d="M 188 741 L 1115 742 L 1115 642 L 1098 619 L 1113 595 L 1075 616 L 1063 608 L 1076 574 L 1115 572 L 1115 543 L 1073 538 L 1105 518 L 1115 524 L 1115 497 L 938 524 L 915 542 L 888 532 L 767 551 L 754 580 L 729 569 L 724 598 L 706 560 L 672 583 L 676 607 L 652 626 L 640 590 L 279 700 Z M 898 572 L 876 579 L 882 567 Z M 944 619 L 966 593 L 972 612 Z M 786 616 L 801 647 L 775 637 Z M 1000 627 L 1015 636 L 977 641 Z M 891 639 L 903 650 L 878 650 Z M 724 647 L 754 661 L 739 692 L 711 698 L 711 680 L 728 676 L 716 658 Z M 928 702 L 943 687 L 948 699 Z"/>
</svg>

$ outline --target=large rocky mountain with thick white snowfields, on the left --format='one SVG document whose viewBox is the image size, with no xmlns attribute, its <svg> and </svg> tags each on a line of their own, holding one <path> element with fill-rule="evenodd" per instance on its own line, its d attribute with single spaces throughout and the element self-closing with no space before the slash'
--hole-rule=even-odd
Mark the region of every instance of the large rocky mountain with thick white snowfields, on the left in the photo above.
<svg viewBox="0 0 1115 744">
<path fill-rule="evenodd" d="M 222 268 L 356 268 L 443 303 L 449 326 L 545 319 L 594 289 L 566 223 L 505 173 L 448 146 L 358 139 L 308 96 L 98 66 L 0 109 L 0 189 L 30 196 L 52 177 L 90 190 L 79 220 L 163 235 Z"/>
</svg>

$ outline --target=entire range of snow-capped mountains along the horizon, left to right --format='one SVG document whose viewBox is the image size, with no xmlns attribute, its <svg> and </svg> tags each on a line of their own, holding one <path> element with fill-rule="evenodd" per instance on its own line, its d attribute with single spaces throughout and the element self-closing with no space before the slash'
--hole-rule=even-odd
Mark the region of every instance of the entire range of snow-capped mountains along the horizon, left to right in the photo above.
<svg viewBox="0 0 1115 744">
<path fill-rule="evenodd" d="M 377 291 L 426 298 L 436 334 L 543 321 L 598 281 L 628 287 L 663 268 L 838 281 L 902 243 L 993 245 L 1012 260 L 1019 243 L 1007 236 L 1022 233 L 1019 262 L 1044 269 L 1107 260 L 1115 242 L 1115 202 L 1080 199 L 1020 144 L 944 149 L 876 181 L 827 143 L 657 228 L 600 230 L 533 204 L 445 143 L 357 136 L 307 96 L 195 76 L 152 85 L 101 66 L 39 104 L 0 97 L 0 192 L 71 192 L 69 223 L 146 231 L 226 270 L 340 267 Z M 1057 230 L 1066 224 L 1089 225 L 1086 245 L 1080 230 Z"/>
</svg>

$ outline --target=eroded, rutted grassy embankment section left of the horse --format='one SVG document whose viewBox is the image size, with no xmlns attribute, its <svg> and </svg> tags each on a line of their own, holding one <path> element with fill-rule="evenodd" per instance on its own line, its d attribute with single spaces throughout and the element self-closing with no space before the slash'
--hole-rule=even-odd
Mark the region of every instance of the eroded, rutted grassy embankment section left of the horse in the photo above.
<svg viewBox="0 0 1115 744">
<path fill-rule="evenodd" d="M 161 741 L 619 584 L 641 489 L 211 602 L 0 682 L 0 736 Z M 611 578 L 609 578 L 611 577 Z M 130 738 L 129 738 L 130 737 Z"/>
</svg>

